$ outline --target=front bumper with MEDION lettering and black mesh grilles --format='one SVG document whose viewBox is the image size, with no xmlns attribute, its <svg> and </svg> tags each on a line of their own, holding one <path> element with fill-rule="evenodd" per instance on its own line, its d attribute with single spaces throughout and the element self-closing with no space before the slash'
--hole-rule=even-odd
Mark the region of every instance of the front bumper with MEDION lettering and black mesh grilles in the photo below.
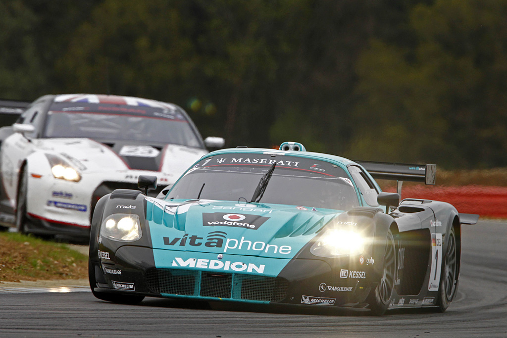
<svg viewBox="0 0 507 338">
<path fill-rule="evenodd" d="M 155 266 L 154 252 L 166 255 L 167 263 Z M 218 260 L 216 254 L 194 253 L 199 257 L 195 262 L 190 258 L 178 261 L 178 251 L 129 245 L 115 253 L 101 251 L 98 255 L 100 259 L 92 259 L 98 292 L 258 304 L 355 306 L 364 302 L 372 286 L 366 280 L 337 278 L 342 269 L 336 271 L 319 259 L 255 257 L 256 268 L 265 268 L 259 273 L 256 268 L 249 269 L 247 256 L 223 255 Z M 274 273 L 276 270 L 278 273 Z"/>
</svg>

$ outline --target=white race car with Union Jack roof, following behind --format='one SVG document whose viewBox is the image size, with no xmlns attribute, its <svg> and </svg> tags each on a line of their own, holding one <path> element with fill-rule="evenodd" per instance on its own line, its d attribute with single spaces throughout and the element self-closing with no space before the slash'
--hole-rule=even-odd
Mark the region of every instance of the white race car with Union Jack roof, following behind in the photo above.
<svg viewBox="0 0 507 338">
<path fill-rule="evenodd" d="M 137 189 L 141 174 L 157 176 L 156 195 L 224 145 L 177 105 L 91 94 L 35 100 L 0 142 L 0 226 L 74 239 L 88 238 L 102 196 Z"/>
</svg>

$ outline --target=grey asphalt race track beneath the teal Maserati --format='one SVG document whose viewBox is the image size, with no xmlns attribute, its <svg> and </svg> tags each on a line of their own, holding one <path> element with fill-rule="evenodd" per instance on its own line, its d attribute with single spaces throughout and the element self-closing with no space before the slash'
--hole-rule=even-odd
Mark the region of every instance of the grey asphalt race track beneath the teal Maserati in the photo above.
<svg viewBox="0 0 507 338">
<path fill-rule="evenodd" d="M 0 337 L 507 337 L 507 221 L 480 221 L 462 234 L 459 291 L 444 314 L 395 310 L 370 317 L 158 298 L 125 306 L 91 292 L 4 293 Z"/>
</svg>

